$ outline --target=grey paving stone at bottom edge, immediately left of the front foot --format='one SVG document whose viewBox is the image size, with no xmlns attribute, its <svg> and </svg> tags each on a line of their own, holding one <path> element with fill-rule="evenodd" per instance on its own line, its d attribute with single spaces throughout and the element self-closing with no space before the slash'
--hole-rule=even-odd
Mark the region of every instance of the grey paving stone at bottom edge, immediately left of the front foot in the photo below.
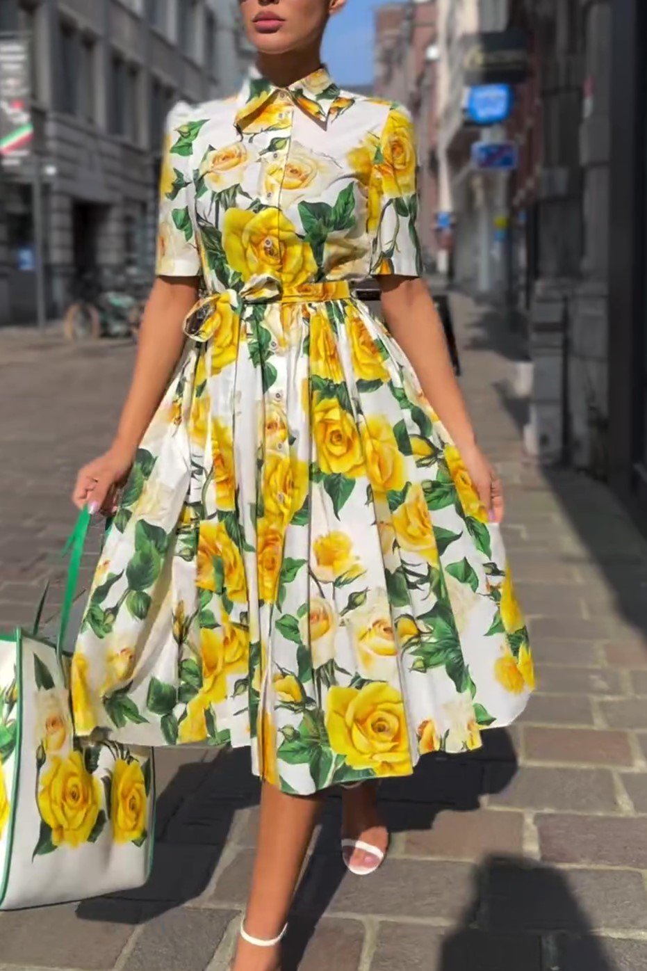
<svg viewBox="0 0 647 971">
<path fill-rule="evenodd" d="M 205 971 L 236 911 L 182 907 L 146 923 L 124 971 Z"/>
</svg>

